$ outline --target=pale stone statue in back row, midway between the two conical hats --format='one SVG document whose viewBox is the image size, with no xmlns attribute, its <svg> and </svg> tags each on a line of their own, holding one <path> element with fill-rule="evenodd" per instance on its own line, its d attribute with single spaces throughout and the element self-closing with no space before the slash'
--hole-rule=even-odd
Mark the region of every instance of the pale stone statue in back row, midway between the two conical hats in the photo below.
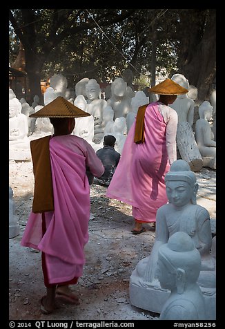
<svg viewBox="0 0 225 329">
<path fill-rule="evenodd" d="M 116 77 L 111 84 L 111 97 L 107 103 L 113 108 L 114 120 L 116 118 L 124 117 L 132 111 L 130 105 L 131 98 L 127 93 L 127 84 L 121 77 Z"/>
</svg>

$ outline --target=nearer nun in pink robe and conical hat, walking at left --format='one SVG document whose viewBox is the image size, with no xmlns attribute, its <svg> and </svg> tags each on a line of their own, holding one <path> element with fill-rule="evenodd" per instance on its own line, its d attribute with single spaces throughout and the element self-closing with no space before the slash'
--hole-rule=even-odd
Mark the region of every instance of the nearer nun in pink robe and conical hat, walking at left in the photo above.
<svg viewBox="0 0 225 329">
<path fill-rule="evenodd" d="M 32 211 L 21 245 L 41 251 L 46 295 L 41 312 L 55 310 L 55 298 L 79 303 L 69 285 L 83 274 L 84 246 L 90 218 L 89 178 L 100 177 L 104 166 L 91 145 L 75 135 L 75 118 L 90 116 L 63 97 L 30 115 L 50 118 L 54 135 L 30 142 L 35 190 Z"/>
</svg>

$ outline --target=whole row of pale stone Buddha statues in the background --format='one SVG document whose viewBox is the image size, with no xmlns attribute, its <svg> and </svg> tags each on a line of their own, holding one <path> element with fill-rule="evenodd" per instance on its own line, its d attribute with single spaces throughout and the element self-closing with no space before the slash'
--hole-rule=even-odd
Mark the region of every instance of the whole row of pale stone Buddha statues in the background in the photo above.
<svg viewBox="0 0 225 329">
<path fill-rule="evenodd" d="M 124 76 L 126 76 L 125 72 Z M 128 77 L 126 79 L 131 81 Z M 193 171 L 199 171 L 202 167 L 216 169 L 215 91 L 211 95 L 211 102 L 206 100 L 196 106 L 197 88 L 190 86 L 184 75 L 175 74 L 171 79 L 189 90 L 188 94 L 178 95 L 175 102 L 170 105 L 178 115 L 178 158 L 186 160 Z M 115 149 L 121 153 L 139 106 L 157 101 L 157 95 L 147 91 L 135 93 L 133 85 L 129 82 L 128 86 L 128 82 L 123 77 L 115 78 L 110 85 L 110 94 L 106 97 L 105 93 L 104 99 L 96 79 L 81 79 L 75 85 L 75 91 L 67 86 L 66 77 L 61 74 L 53 75 L 50 78 L 50 86 L 43 94 L 44 104 L 47 105 L 57 96 L 62 96 L 90 113 L 90 117 L 76 119 L 76 126 L 72 133 L 88 140 L 95 151 L 103 146 L 104 135 L 110 133 L 115 135 L 117 139 Z M 34 97 L 32 106 L 24 99 L 17 100 L 10 89 L 10 158 L 14 160 L 29 160 L 30 151 L 27 150 L 29 141 L 52 133 L 52 124 L 48 118 L 29 118 L 32 112 L 41 109 L 42 106 L 38 102 L 37 95 Z M 196 107 L 199 118 L 194 124 Z M 23 155 L 21 150 L 23 150 Z"/>
</svg>

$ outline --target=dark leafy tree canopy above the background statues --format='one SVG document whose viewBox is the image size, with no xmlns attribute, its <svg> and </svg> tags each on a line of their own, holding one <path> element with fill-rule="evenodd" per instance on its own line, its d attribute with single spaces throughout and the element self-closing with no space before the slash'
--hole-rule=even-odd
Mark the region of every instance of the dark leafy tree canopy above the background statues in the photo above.
<svg viewBox="0 0 225 329">
<path fill-rule="evenodd" d="M 55 73 L 74 87 L 130 68 L 142 81 L 155 70 L 182 73 L 205 100 L 215 81 L 215 16 L 215 9 L 11 9 L 10 61 L 21 42 L 31 97 Z"/>
</svg>

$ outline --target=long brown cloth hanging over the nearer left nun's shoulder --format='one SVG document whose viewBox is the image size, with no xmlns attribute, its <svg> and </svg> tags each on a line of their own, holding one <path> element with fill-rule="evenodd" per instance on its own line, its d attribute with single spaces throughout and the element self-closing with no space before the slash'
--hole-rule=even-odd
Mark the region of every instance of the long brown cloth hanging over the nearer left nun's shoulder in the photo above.
<svg viewBox="0 0 225 329">
<path fill-rule="evenodd" d="M 50 135 L 32 140 L 30 150 L 35 175 L 35 191 L 32 212 L 50 212 L 54 210 L 52 172 L 50 164 Z"/>
</svg>

